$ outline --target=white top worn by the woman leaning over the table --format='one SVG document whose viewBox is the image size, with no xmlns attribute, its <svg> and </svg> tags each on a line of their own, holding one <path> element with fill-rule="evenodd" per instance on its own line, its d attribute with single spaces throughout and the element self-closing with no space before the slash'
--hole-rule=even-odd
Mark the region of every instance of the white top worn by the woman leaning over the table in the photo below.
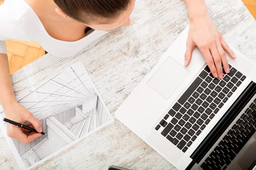
<svg viewBox="0 0 256 170">
<path fill-rule="evenodd" d="M 106 34 L 93 31 L 81 40 L 67 42 L 52 38 L 35 11 L 24 0 L 5 0 L 0 6 L 0 53 L 6 54 L 5 40 L 37 41 L 45 51 L 57 57 L 70 57 Z"/>
</svg>

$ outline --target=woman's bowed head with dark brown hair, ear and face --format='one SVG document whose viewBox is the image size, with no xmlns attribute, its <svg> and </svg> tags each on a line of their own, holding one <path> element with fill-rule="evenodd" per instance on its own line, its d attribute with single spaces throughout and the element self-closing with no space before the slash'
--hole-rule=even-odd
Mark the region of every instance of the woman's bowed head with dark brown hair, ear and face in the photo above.
<svg viewBox="0 0 256 170">
<path fill-rule="evenodd" d="M 54 0 L 55 11 L 90 28 L 110 31 L 130 24 L 135 0 Z"/>
</svg>

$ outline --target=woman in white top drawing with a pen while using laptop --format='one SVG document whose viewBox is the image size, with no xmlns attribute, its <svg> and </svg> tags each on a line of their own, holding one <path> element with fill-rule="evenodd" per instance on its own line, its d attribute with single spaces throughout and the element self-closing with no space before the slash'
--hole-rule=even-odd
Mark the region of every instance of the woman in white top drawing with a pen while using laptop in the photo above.
<svg viewBox="0 0 256 170">
<path fill-rule="evenodd" d="M 209 17 L 204 0 L 185 2 L 190 27 L 184 65 L 189 64 L 192 50 L 197 45 L 212 75 L 222 79 L 221 63 L 229 73 L 224 50 L 231 57 L 236 56 Z M 53 55 L 71 56 L 86 42 L 86 28 L 110 31 L 129 26 L 134 5 L 135 0 L 6 0 L 0 6 L 0 102 L 6 118 L 20 123 L 30 122 L 38 132 L 42 131 L 41 122 L 15 99 L 4 40 L 38 41 Z M 41 136 L 34 132 L 26 136 L 24 132 L 19 127 L 7 126 L 8 136 L 25 144 Z"/>
</svg>

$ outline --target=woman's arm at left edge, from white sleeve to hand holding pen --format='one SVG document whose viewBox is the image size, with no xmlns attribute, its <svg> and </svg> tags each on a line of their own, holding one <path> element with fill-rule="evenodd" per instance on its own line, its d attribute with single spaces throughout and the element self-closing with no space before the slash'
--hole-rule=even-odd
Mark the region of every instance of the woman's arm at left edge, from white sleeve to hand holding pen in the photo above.
<svg viewBox="0 0 256 170">
<path fill-rule="evenodd" d="M 0 6 L 0 103 L 3 106 L 6 118 L 15 122 L 25 123 L 30 122 L 38 132 L 42 132 L 41 122 L 36 119 L 32 113 L 20 105 L 15 99 L 15 94 L 12 89 L 12 79 L 9 71 L 8 57 L 6 55 L 6 43 L 4 40 L 8 39 L 9 30 L 14 27 L 9 15 L 6 14 L 4 6 Z M 17 139 L 24 144 L 29 144 L 39 136 L 41 133 L 31 132 L 27 136 L 24 134 L 24 129 L 12 125 L 7 125 L 7 135 Z"/>
</svg>

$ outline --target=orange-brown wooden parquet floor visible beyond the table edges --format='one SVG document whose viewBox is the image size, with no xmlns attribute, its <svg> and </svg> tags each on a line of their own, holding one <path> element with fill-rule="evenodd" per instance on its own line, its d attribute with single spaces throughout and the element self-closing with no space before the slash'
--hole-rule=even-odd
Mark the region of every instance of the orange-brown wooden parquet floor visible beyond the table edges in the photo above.
<svg viewBox="0 0 256 170">
<path fill-rule="evenodd" d="M 0 0 L 0 5 L 4 0 Z M 246 8 L 256 19 L 256 0 L 242 0 Z M 9 67 L 11 74 L 44 55 L 44 49 L 38 42 L 18 40 L 6 41 Z"/>
</svg>

